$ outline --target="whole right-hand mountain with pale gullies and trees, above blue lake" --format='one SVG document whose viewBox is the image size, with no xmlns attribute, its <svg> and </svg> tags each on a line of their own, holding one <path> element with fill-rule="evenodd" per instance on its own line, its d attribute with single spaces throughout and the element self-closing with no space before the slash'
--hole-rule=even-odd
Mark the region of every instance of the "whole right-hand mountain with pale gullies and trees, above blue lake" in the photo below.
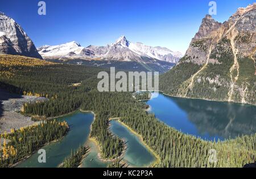
<svg viewBox="0 0 256 179">
<path fill-rule="evenodd" d="M 160 88 L 179 97 L 256 104 L 255 24 L 256 3 L 224 23 L 207 15 Z"/>
</svg>

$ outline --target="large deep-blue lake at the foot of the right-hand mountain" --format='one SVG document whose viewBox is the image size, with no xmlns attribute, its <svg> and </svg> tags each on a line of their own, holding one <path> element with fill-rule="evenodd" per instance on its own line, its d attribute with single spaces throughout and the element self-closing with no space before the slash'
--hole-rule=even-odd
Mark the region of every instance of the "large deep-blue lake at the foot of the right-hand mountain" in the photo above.
<svg viewBox="0 0 256 179">
<path fill-rule="evenodd" d="M 150 105 L 150 113 L 168 126 L 202 139 L 224 140 L 256 133 L 256 106 L 161 93 L 146 103 Z"/>
</svg>

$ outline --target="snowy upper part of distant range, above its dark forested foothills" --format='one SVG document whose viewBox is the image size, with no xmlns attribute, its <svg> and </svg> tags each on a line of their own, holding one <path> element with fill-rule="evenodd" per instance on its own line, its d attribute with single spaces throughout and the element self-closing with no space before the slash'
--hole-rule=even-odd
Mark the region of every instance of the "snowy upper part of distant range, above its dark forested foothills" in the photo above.
<svg viewBox="0 0 256 179">
<path fill-rule="evenodd" d="M 61 45 L 39 47 L 38 51 L 44 59 L 96 59 L 117 61 L 143 61 L 144 57 L 177 63 L 183 56 L 164 47 L 151 47 L 142 43 L 131 43 L 125 36 L 118 38 L 115 43 L 106 46 L 81 47 L 72 41 Z"/>
</svg>

